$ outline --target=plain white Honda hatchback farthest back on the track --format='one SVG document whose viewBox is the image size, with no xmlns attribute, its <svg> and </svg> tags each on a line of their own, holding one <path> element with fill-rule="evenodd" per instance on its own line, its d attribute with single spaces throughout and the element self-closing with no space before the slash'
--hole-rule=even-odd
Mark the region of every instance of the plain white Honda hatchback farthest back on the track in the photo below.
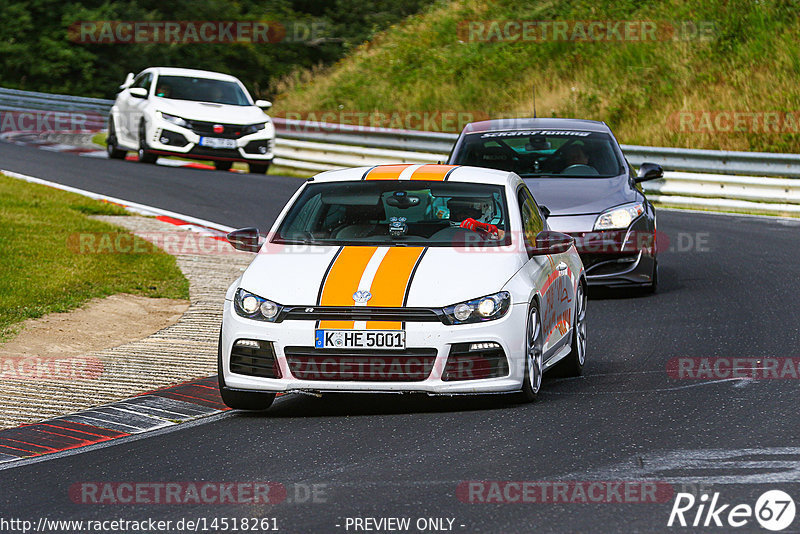
<svg viewBox="0 0 800 534">
<path fill-rule="evenodd" d="M 235 161 L 250 172 L 269 169 L 275 127 L 264 110 L 272 104 L 250 97 L 242 82 L 218 72 L 152 67 L 128 74 L 108 119 L 108 155 L 128 150 L 154 163 L 159 155 L 210 160 L 218 170 Z"/>
</svg>

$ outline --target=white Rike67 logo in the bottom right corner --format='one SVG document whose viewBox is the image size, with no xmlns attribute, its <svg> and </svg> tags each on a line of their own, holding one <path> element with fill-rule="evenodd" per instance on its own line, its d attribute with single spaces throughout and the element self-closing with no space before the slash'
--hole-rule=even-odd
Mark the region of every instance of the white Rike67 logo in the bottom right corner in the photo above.
<svg viewBox="0 0 800 534">
<path fill-rule="evenodd" d="M 691 493 L 678 493 L 667 526 L 739 528 L 755 519 L 767 530 L 780 531 L 788 528 L 794 517 L 794 499 L 781 490 L 765 492 L 755 506 L 723 503 L 719 492 L 711 497 L 704 493 L 699 499 Z"/>
</svg>

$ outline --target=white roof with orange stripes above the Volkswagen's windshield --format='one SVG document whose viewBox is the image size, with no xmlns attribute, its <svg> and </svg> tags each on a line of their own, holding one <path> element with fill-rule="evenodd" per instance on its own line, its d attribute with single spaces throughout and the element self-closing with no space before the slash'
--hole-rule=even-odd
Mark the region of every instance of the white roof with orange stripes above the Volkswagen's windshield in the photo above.
<svg viewBox="0 0 800 534">
<path fill-rule="evenodd" d="M 483 167 L 468 167 L 464 165 L 376 165 L 374 167 L 355 167 L 350 169 L 339 169 L 334 171 L 326 171 L 314 176 L 313 181 L 316 182 L 352 182 L 363 180 L 368 173 L 374 171 L 389 171 L 394 170 L 394 173 L 386 173 L 389 176 L 384 178 L 386 180 L 397 180 L 396 177 L 399 172 L 405 172 L 410 176 L 413 172 L 421 169 L 422 171 L 430 171 L 440 173 L 441 176 L 447 176 L 448 182 L 467 182 L 475 184 L 493 184 L 493 185 L 511 185 L 513 186 L 520 180 L 519 176 L 513 172 L 499 171 L 496 169 L 487 169 Z M 372 176 L 375 176 L 373 174 Z M 439 178 L 441 179 L 441 178 Z"/>
</svg>

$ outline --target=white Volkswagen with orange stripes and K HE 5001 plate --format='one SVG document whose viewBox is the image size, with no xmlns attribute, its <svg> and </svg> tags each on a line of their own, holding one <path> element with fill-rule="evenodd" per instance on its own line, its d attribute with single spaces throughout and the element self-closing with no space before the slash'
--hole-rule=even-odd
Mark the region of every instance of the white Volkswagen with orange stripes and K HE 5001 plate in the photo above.
<svg viewBox="0 0 800 534">
<path fill-rule="evenodd" d="M 518 392 L 581 372 L 586 280 L 514 173 L 383 165 L 310 178 L 229 288 L 225 403 L 278 392 Z"/>
</svg>

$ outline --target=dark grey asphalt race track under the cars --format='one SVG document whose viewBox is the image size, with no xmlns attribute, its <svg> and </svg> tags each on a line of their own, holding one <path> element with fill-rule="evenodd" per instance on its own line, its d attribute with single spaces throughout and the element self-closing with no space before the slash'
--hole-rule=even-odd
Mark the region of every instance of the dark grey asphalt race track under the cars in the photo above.
<svg viewBox="0 0 800 534">
<path fill-rule="evenodd" d="M 301 183 L 2 143 L 0 168 L 262 229 Z M 800 357 L 800 221 L 664 210 L 658 222 L 671 246 L 660 253 L 659 293 L 594 291 L 584 376 L 546 378 L 534 404 L 509 405 L 499 395 L 291 395 L 264 415 L 228 412 L 0 470 L 0 516 L 275 517 L 280 531 L 292 533 L 354 532 L 346 528 L 353 517 L 410 517 L 412 525 L 451 518 L 452 531 L 465 533 L 688 532 L 698 529 L 667 527 L 674 495 L 657 503 L 487 504 L 462 502 L 457 488 L 464 481 L 662 481 L 675 493 L 719 492 L 720 503 L 731 505 L 754 506 L 772 489 L 797 497 L 800 382 L 680 379 L 667 363 Z M 272 481 L 286 486 L 288 499 L 73 502 L 70 486 L 88 481 Z M 317 502 L 306 498 L 314 485 Z M 736 530 L 763 531 L 753 518 Z"/>
</svg>

